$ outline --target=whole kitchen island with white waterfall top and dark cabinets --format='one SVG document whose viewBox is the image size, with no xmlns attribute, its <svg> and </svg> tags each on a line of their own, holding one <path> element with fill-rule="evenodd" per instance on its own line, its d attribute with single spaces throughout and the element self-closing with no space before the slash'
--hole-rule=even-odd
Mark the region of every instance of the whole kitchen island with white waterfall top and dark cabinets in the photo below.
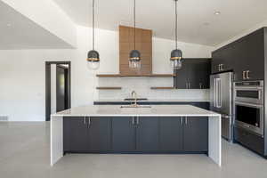
<svg viewBox="0 0 267 178">
<path fill-rule="evenodd" d="M 67 109 L 51 116 L 51 166 L 69 153 L 206 154 L 221 166 L 221 115 L 190 105 Z"/>
</svg>

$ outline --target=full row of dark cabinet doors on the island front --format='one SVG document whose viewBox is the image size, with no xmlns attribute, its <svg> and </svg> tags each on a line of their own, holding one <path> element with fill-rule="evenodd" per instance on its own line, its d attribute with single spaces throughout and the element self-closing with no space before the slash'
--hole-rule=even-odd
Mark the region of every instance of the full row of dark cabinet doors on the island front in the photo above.
<svg viewBox="0 0 267 178">
<path fill-rule="evenodd" d="M 66 117 L 63 126 L 67 153 L 207 151 L 207 118 Z"/>
</svg>

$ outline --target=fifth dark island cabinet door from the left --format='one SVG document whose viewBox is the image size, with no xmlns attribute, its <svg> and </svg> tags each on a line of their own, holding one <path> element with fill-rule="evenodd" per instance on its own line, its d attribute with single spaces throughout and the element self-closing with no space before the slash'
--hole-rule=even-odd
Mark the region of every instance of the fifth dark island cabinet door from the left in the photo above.
<svg viewBox="0 0 267 178">
<path fill-rule="evenodd" d="M 161 151 L 182 151 L 181 117 L 160 117 L 159 147 Z"/>
</svg>

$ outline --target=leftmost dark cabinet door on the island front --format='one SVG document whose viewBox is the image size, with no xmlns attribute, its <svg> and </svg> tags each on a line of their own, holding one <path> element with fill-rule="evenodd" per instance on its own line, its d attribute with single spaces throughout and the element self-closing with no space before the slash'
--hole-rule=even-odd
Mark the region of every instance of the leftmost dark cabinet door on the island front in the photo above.
<svg viewBox="0 0 267 178">
<path fill-rule="evenodd" d="M 88 125 L 85 117 L 65 117 L 63 121 L 64 150 L 86 152 L 89 150 Z"/>
</svg>

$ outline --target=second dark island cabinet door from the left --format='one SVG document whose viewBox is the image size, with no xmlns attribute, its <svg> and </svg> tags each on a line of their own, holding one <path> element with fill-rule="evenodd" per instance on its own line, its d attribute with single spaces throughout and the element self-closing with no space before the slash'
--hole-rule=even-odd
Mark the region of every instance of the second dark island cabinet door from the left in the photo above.
<svg viewBox="0 0 267 178">
<path fill-rule="evenodd" d="M 111 150 L 111 118 L 88 118 L 89 150 L 95 152 Z"/>
</svg>

